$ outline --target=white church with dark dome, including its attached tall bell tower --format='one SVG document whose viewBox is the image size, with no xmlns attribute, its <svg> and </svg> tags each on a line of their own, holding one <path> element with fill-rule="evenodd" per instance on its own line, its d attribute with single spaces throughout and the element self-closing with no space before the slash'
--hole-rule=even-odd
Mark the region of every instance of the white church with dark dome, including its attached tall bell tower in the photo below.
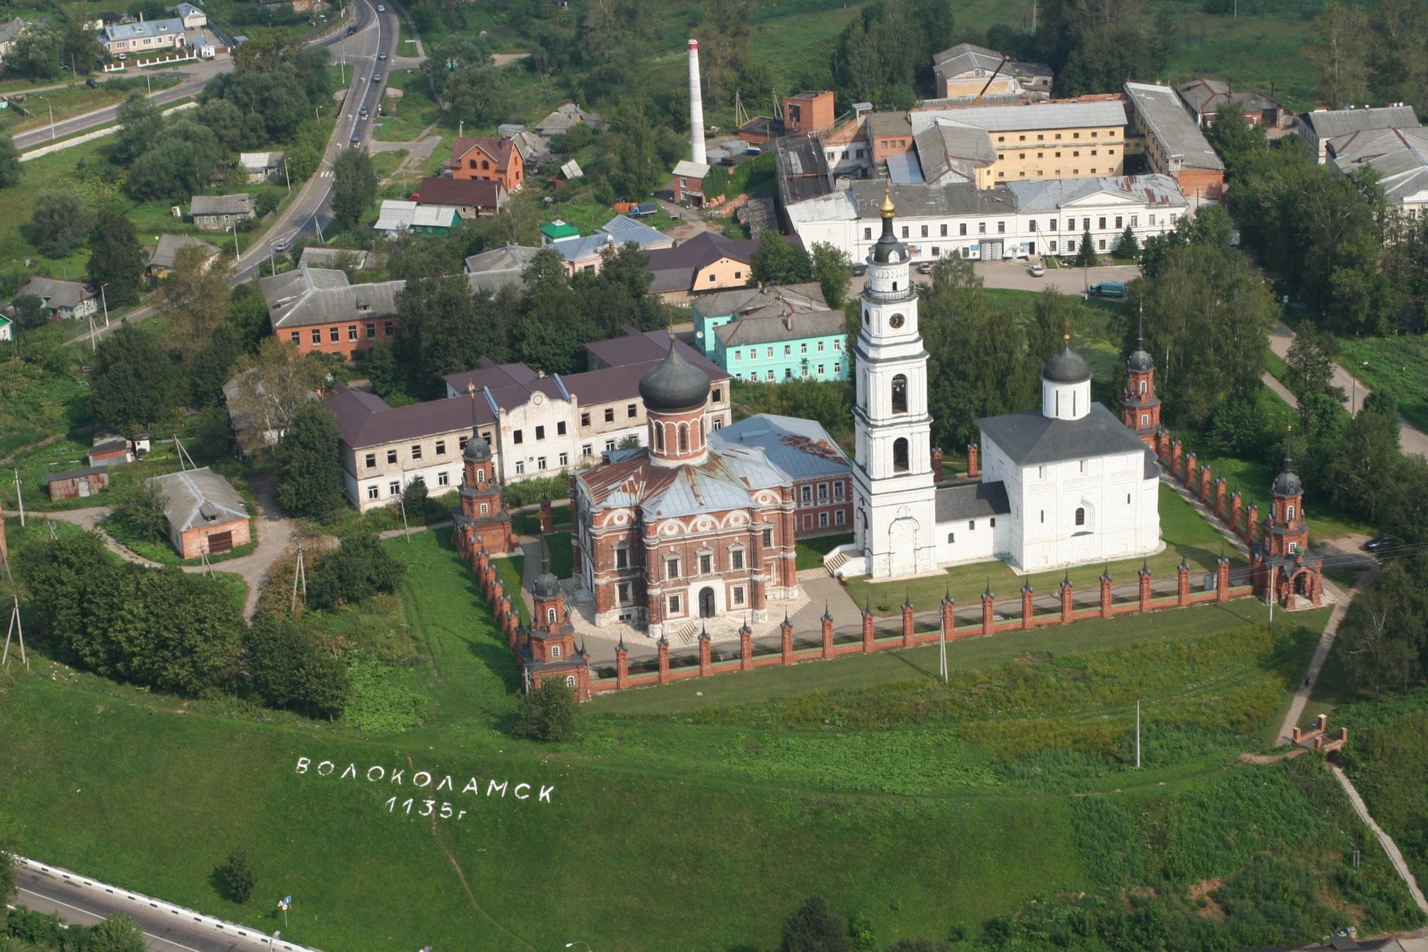
<svg viewBox="0 0 1428 952">
<path fill-rule="evenodd" d="M 1155 457 L 1091 400 L 1091 368 L 1070 340 L 1041 371 L 1040 410 L 975 421 L 981 481 L 937 485 L 917 290 L 890 197 L 881 213 L 855 350 L 854 541 L 828 559 L 843 555 L 844 575 L 900 578 L 994 558 L 1042 572 L 1160 551 Z"/>
</svg>

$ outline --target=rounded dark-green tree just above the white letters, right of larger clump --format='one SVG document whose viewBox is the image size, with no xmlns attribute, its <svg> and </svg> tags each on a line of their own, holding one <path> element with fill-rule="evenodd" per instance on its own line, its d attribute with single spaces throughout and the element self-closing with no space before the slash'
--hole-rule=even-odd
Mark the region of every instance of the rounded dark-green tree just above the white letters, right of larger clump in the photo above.
<svg viewBox="0 0 1428 952">
<path fill-rule="evenodd" d="M 291 618 L 260 614 L 243 637 L 253 692 L 270 708 L 340 718 L 351 694 L 347 665 Z"/>
</svg>

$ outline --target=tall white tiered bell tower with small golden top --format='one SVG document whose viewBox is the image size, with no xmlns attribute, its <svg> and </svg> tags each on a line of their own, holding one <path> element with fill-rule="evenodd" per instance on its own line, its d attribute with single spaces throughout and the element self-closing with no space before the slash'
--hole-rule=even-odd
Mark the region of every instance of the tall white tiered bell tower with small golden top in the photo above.
<svg viewBox="0 0 1428 952">
<path fill-rule="evenodd" d="M 863 327 L 854 345 L 853 527 L 864 571 L 892 578 L 937 567 L 937 487 L 917 288 L 907 245 L 894 234 L 897 208 L 888 191 L 878 213 L 883 234 L 868 253 Z"/>
</svg>

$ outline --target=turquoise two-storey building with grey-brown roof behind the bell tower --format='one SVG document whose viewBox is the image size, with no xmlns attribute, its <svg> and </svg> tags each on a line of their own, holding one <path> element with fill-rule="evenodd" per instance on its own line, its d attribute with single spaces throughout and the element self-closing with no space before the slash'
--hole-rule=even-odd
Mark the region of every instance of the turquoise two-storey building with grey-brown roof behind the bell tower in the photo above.
<svg viewBox="0 0 1428 952">
<path fill-rule="evenodd" d="M 828 310 L 817 284 L 705 294 L 693 310 L 695 344 L 738 380 L 848 378 L 844 315 Z"/>
</svg>

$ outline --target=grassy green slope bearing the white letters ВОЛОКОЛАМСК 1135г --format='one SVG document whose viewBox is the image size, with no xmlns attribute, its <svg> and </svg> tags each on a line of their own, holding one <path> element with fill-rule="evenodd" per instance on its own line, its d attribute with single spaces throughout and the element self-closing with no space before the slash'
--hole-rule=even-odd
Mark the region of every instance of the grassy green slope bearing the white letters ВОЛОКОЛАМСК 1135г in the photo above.
<svg viewBox="0 0 1428 952">
<path fill-rule="evenodd" d="M 1171 895 L 1232 878 L 1257 854 L 1322 875 L 1332 911 L 1367 905 L 1364 889 L 1327 885 L 1339 864 L 1325 831 L 1339 818 L 1324 818 L 1311 764 L 1224 769 L 1258 745 L 1324 612 L 1274 634 L 1247 627 L 1238 607 L 1204 607 L 970 639 L 950 647 L 952 689 L 927 674 L 928 648 L 687 682 L 601 698 L 583 739 L 545 746 L 506 734 L 518 669 L 444 535 L 387 547 L 408 575 L 397 598 L 370 607 L 371 621 L 400 628 L 416 658 L 363 685 L 354 704 L 411 709 L 420 695 L 424 724 L 363 734 L 251 718 L 233 702 L 180 707 L 53 668 L 53 679 L 0 682 L 0 729 L 13 741 L 0 749 L 0 825 L 29 855 L 357 951 L 387 948 L 387 936 L 501 949 L 575 935 L 611 948 L 670 935 L 697 948 L 768 945 L 814 892 L 865 912 L 884 941 L 952 923 L 975 932 L 1037 895 L 1118 895 L 1162 878 Z M 367 614 L 310 618 L 354 631 Z M 1135 697 L 1145 698 L 1140 774 Z M 300 756 L 311 758 L 306 774 Z M 338 766 L 318 776 L 321 761 Z M 348 762 L 363 775 L 403 769 L 406 781 L 340 779 Z M 420 795 L 404 812 L 423 769 L 454 778 L 454 792 L 433 795 L 434 812 L 447 801 L 464 816 L 418 816 Z M 496 779 L 554 792 L 548 804 L 461 795 L 471 775 L 483 789 Z M 1070 795 L 1081 792 L 1107 806 Z M 1117 859 L 1112 839 L 1144 849 Z M 297 896 L 287 926 L 271 902 L 236 906 L 214 889 L 213 868 L 234 848 L 253 858 L 258 896 Z M 1381 858 L 1365 856 L 1355 876 L 1397 896 Z M 394 878 L 423 888 L 393 891 Z M 635 878 L 661 902 L 603 888 Z M 533 881 L 600 893 L 603 912 L 551 905 Z M 1398 925 L 1384 908 L 1359 923 Z"/>
</svg>

